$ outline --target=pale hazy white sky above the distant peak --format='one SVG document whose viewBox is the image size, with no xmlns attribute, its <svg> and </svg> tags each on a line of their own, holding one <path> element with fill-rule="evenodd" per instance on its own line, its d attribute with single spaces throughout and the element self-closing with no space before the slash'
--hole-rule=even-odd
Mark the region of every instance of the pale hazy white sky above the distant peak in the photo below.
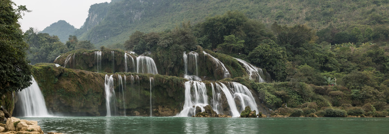
<svg viewBox="0 0 389 134">
<path fill-rule="evenodd" d="M 90 5 L 110 2 L 111 0 L 12 0 L 17 5 L 26 5 L 30 13 L 25 13 L 19 19 L 21 29 L 44 30 L 58 20 L 66 22 L 79 29 L 88 17 Z"/>
</svg>

